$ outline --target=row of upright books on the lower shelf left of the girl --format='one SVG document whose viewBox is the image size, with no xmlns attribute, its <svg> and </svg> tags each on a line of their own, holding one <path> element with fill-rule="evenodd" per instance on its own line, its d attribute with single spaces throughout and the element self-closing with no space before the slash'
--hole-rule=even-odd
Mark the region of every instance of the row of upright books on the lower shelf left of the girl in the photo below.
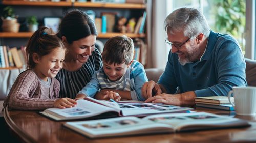
<svg viewBox="0 0 256 143">
<path fill-rule="evenodd" d="M 26 65 L 25 47 L 21 46 L 9 48 L 9 46 L 0 46 L 0 68 L 17 67 Z"/>
</svg>

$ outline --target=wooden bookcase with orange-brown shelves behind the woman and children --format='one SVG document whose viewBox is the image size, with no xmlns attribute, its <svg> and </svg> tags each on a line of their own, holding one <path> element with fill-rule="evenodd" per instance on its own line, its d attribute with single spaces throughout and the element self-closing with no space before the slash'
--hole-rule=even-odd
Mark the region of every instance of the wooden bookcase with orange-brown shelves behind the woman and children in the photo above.
<svg viewBox="0 0 256 143">
<path fill-rule="evenodd" d="M 146 34 L 144 33 L 145 28 L 145 10 L 146 10 L 146 3 L 96 3 L 96 2 L 77 2 L 76 0 L 67 0 L 67 1 L 60 1 L 60 2 L 52 2 L 50 0 L 39 2 L 39 1 L 27 1 L 27 0 L 3 0 L 0 4 L 2 7 L 6 6 L 12 6 L 14 8 L 15 14 L 19 15 L 18 22 L 20 23 L 20 31 L 18 33 L 12 33 L 12 32 L 0 32 L 0 45 L 9 46 L 10 48 L 17 47 L 17 49 L 20 48 L 20 46 L 25 46 L 28 39 L 32 36 L 33 32 L 25 32 L 26 30 L 26 23 L 25 20 L 26 17 L 30 16 L 31 13 L 35 16 L 37 16 L 37 20 L 39 23 L 39 26 L 44 25 L 44 18 L 45 17 L 62 17 L 64 13 L 68 12 L 71 9 L 81 9 L 85 12 L 93 11 L 94 12 L 94 18 L 101 19 L 103 13 L 115 13 L 115 22 L 119 20 L 120 17 L 126 18 L 127 22 L 125 22 L 123 26 L 127 28 L 126 31 L 119 31 L 119 29 L 114 29 L 117 26 L 119 26 L 119 23 L 112 21 L 113 30 L 109 31 L 109 28 L 105 32 L 101 31 L 101 27 L 98 28 L 96 25 L 96 28 L 98 30 L 98 36 L 97 38 L 104 44 L 108 38 L 114 37 L 114 36 L 120 36 L 120 35 L 126 35 L 130 38 L 135 39 L 142 39 L 143 41 L 146 41 Z M 42 6 L 42 7 L 41 7 Z M 45 11 L 44 13 L 41 13 L 41 11 Z M 30 13 L 30 15 L 28 15 Z M 142 17 L 144 17 L 144 22 L 142 22 Z M 130 28 L 128 30 L 128 23 L 130 22 L 130 19 L 134 19 L 134 28 L 137 27 L 136 32 L 131 31 Z M 138 20 L 141 19 L 140 23 L 138 23 Z M 110 20 L 108 20 L 109 22 Z M 95 21 L 96 23 L 96 21 Z M 142 24 L 144 23 L 144 24 Z M 102 23 L 100 23 L 100 26 Z M 109 26 L 109 23 L 107 23 Z M 21 26 L 23 25 L 23 28 Z M 144 26 L 141 26 L 144 25 Z M 24 28 L 25 27 L 25 28 Z M 146 45 L 146 43 L 145 43 Z M 140 50 L 139 55 L 143 52 L 143 50 Z M 141 57 L 141 56 L 138 56 Z M 140 61 L 140 60 L 139 60 Z M 140 61 L 141 62 L 141 61 Z M 145 64 L 144 64 L 145 65 Z M 3 68 L 1 68 L 3 69 Z M 7 68 L 5 68 L 7 69 Z"/>
</svg>

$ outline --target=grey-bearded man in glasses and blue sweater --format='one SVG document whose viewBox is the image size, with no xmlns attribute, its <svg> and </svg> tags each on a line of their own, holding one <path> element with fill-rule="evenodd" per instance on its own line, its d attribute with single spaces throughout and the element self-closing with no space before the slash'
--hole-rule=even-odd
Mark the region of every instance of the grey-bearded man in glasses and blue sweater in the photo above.
<svg viewBox="0 0 256 143">
<path fill-rule="evenodd" d="M 245 86 L 245 60 L 238 42 L 210 30 L 195 8 L 180 8 L 164 22 L 171 46 L 158 83 L 146 82 L 146 102 L 193 105 L 195 97 L 227 96 L 233 86 Z M 177 87 L 181 94 L 175 94 Z M 156 95 L 156 96 L 154 96 Z"/>
</svg>

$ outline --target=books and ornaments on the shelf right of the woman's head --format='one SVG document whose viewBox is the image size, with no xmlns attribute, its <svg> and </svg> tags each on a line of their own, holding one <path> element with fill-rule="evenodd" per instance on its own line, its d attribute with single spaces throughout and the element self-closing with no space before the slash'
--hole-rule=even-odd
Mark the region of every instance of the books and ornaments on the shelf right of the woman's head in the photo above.
<svg viewBox="0 0 256 143">
<path fill-rule="evenodd" d="M 93 13 L 92 11 L 87 12 Z M 98 33 L 121 32 L 142 34 L 145 31 L 146 11 L 137 20 L 131 18 L 127 20 L 124 17 L 117 18 L 117 13 L 104 12 L 101 17 L 93 18 Z M 92 17 L 94 17 L 93 15 Z"/>
</svg>

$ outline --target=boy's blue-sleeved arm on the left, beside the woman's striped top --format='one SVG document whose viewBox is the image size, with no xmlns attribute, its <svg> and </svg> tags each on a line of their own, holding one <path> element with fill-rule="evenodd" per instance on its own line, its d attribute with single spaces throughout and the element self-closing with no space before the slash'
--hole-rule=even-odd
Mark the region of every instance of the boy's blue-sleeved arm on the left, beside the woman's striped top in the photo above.
<svg viewBox="0 0 256 143">
<path fill-rule="evenodd" d="M 95 72 L 90 82 L 87 83 L 86 86 L 83 87 L 83 89 L 77 93 L 76 98 L 78 98 L 78 96 L 81 98 L 81 94 L 83 94 L 84 97 L 89 96 L 94 98 L 94 95 L 97 93 L 99 89 L 100 84 L 97 78 L 97 73 Z"/>
</svg>

